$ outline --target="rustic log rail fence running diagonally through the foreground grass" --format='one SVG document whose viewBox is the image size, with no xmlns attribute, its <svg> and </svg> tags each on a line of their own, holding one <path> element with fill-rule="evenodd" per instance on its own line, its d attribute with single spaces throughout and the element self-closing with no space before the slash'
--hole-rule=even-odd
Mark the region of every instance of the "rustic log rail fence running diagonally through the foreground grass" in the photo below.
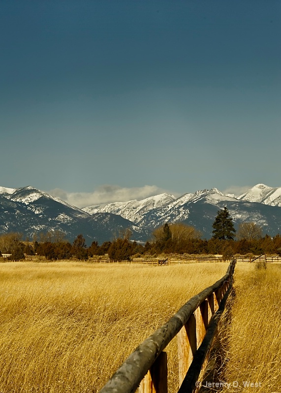
<svg viewBox="0 0 281 393">
<path fill-rule="evenodd" d="M 100 393 L 167 393 L 168 343 L 177 336 L 179 393 L 195 392 L 195 383 L 205 365 L 219 318 L 233 283 L 236 260 L 225 276 L 204 289 L 144 340 L 118 368 Z M 205 362 L 205 363 L 204 363 Z"/>
</svg>

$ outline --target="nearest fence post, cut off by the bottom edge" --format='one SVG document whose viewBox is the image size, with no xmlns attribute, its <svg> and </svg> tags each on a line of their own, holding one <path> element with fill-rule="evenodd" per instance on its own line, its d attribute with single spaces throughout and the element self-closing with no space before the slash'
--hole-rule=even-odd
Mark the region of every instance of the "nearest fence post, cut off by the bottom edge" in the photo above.
<svg viewBox="0 0 281 393">
<path fill-rule="evenodd" d="M 161 352 L 140 383 L 139 393 L 168 393 L 167 353 Z"/>
</svg>

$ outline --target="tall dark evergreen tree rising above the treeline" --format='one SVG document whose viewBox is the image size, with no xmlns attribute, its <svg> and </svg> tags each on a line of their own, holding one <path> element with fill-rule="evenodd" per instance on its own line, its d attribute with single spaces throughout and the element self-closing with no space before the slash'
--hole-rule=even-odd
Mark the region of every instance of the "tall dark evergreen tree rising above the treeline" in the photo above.
<svg viewBox="0 0 281 393">
<path fill-rule="evenodd" d="M 213 228 L 214 239 L 232 240 L 234 238 L 236 230 L 226 206 L 218 211 Z"/>
</svg>

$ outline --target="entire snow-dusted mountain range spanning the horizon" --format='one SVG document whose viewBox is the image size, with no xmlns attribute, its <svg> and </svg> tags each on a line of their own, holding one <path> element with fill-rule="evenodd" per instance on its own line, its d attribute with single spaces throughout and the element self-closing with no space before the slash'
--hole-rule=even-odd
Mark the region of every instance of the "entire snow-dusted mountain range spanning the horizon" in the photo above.
<svg viewBox="0 0 281 393">
<path fill-rule="evenodd" d="M 218 210 L 226 206 L 235 227 L 253 221 L 264 233 L 281 232 L 281 187 L 257 184 L 235 197 L 218 189 L 201 190 L 174 197 L 160 194 L 143 200 L 130 200 L 87 206 L 83 209 L 31 186 L 11 189 L 0 187 L 0 233 L 34 233 L 60 230 L 69 241 L 82 233 L 87 244 L 113 240 L 130 228 L 132 239 L 150 239 L 154 228 L 165 223 L 193 225 L 203 237 L 212 236 L 212 224 Z"/>
</svg>

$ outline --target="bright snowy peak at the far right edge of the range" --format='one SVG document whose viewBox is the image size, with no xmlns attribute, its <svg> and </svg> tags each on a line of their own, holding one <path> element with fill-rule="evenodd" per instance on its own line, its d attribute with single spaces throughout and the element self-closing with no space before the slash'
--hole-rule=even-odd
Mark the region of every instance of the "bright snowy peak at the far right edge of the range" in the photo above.
<svg viewBox="0 0 281 393">
<path fill-rule="evenodd" d="M 270 206 L 281 206 L 281 187 L 269 187 L 265 184 L 256 184 L 245 194 L 240 195 L 238 199 L 264 203 Z"/>
</svg>

